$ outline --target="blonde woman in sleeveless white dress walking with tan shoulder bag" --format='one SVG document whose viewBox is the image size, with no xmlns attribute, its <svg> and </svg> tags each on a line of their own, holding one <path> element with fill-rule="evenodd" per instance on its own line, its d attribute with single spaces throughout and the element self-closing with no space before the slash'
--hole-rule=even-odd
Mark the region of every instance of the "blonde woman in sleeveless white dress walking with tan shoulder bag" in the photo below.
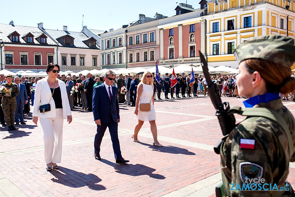
<svg viewBox="0 0 295 197">
<path fill-rule="evenodd" d="M 162 146 L 157 140 L 157 126 L 156 126 L 156 112 L 154 108 L 154 90 L 153 90 L 153 75 L 150 71 L 145 71 L 142 75 L 141 82 L 137 86 L 137 97 L 135 103 L 135 119 L 138 119 L 138 123 L 135 126 L 134 134 L 131 138 L 134 139 L 135 142 L 139 142 L 137 139 L 137 135 L 139 130 L 141 129 L 144 121 L 150 122 L 150 130 L 152 131 L 154 142 L 154 146 Z M 140 111 L 140 103 L 150 103 L 150 111 Z"/>
</svg>

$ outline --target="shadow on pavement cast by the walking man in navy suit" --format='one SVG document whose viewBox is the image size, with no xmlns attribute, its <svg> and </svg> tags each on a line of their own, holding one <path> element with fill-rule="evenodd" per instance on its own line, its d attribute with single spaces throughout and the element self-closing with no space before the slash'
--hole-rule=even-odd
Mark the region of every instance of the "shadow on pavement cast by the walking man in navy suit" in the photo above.
<svg viewBox="0 0 295 197">
<path fill-rule="evenodd" d="M 110 165 L 114 167 L 116 172 L 124 175 L 130 175 L 130 176 L 141 176 L 141 175 L 149 175 L 151 178 L 155 179 L 165 179 L 163 175 L 159 174 L 153 174 L 155 171 L 154 168 L 142 165 L 142 164 L 116 164 L 113 162 L 110 162 L 106 159 L 101 159 L 101 162 L 104 162 L 107 165 Z"/>
</svg>

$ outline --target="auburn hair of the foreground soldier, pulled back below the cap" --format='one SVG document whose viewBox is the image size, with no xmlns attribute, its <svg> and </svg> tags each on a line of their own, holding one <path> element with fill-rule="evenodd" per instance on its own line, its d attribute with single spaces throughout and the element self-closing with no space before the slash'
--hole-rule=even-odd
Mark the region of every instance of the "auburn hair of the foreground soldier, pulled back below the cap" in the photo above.
<svg viewBox="0 0 295 197">
<path fill-rule="evenodd" d="M 262 59 L 245 60 L 249 73 L 259 72 L 266 82 L 267 92 L 287 94 L 295 90 L 295 78 L 291 77 L 291 69 Z"/>
</svg>

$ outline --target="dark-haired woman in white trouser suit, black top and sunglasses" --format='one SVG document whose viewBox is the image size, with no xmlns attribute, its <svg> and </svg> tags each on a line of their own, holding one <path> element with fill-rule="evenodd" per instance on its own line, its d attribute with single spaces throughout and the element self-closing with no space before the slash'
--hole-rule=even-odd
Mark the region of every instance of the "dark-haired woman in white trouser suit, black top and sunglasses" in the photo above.
<svg viewBox="0 0 295 197">
<path fill-rule="evenodd" d="M 46 68 L 48 77 L 39 80 L 35 89 L 33 122 L 37 125 L 38 117 L 43 130 L 44 155 L 46 170 L 58 169 L 61 162 L 63 143 L 63 119 L 72 122 L 72 113 L 65 82 L 56 79 L 60 67 L 50 63 Z M 50 104 L 50 111 L 40 112 L 40 105 Z"/>
</svg>

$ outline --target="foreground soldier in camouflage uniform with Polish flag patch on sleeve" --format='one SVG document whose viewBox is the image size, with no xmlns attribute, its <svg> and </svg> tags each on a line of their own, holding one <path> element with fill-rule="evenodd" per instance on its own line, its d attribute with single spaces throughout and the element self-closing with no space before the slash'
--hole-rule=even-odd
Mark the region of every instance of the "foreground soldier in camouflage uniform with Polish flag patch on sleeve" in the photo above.
<svg viewBox="0 0 295 197">
<path fill-rule="evenodd" d="M 270 191 L 275 184 L 278 189 L 286 185 L 289 162 L 295 161 L 295 120 L 279 95 L 295 88 L 295 79 L 290 77 L 295 61 L 294 41 L 285 36 L 258 36 L 235 48 L 240 69 L 239 94 L 249 97 L 244 101 L 245 109 L 261 108 L 257 109 L 259 113 L 265 108 L 273 110 L 272 114 L 281 117 L 281 121 L 273 121 L 262 113 L 251 114 L 224 136 L 220 155 L 225 196 L 295 196 L 290 184 L 289 191 Z M 272 75 L 278 71 L 278 77 Z M 261 191 L 259 187 L 256 191 L 239 189 L 238 184 L 240 188 L 243 184 L 250 185 L 248 178 L 257 178 L 256 182 L 264 179 L 264 183 L 272 185 L 271 189 L 270 186 Z"/>
</svg>

